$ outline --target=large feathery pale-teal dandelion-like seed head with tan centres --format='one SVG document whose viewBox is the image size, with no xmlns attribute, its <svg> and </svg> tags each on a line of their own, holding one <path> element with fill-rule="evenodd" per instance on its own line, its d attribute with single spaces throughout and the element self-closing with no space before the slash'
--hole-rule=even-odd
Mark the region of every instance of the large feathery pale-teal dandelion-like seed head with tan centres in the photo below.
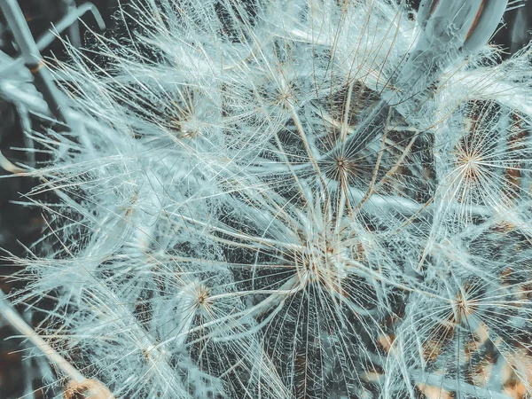
<svg viewBox="0 0 532 399">
<path fill-rule="evenodd" d="M 56 71 L 101 128 L 35 171 L 21 298 L 64 356 L 121 398 L 532 394 L 529 47 L 385 0 L 133 4 Z"/>
</svg>

